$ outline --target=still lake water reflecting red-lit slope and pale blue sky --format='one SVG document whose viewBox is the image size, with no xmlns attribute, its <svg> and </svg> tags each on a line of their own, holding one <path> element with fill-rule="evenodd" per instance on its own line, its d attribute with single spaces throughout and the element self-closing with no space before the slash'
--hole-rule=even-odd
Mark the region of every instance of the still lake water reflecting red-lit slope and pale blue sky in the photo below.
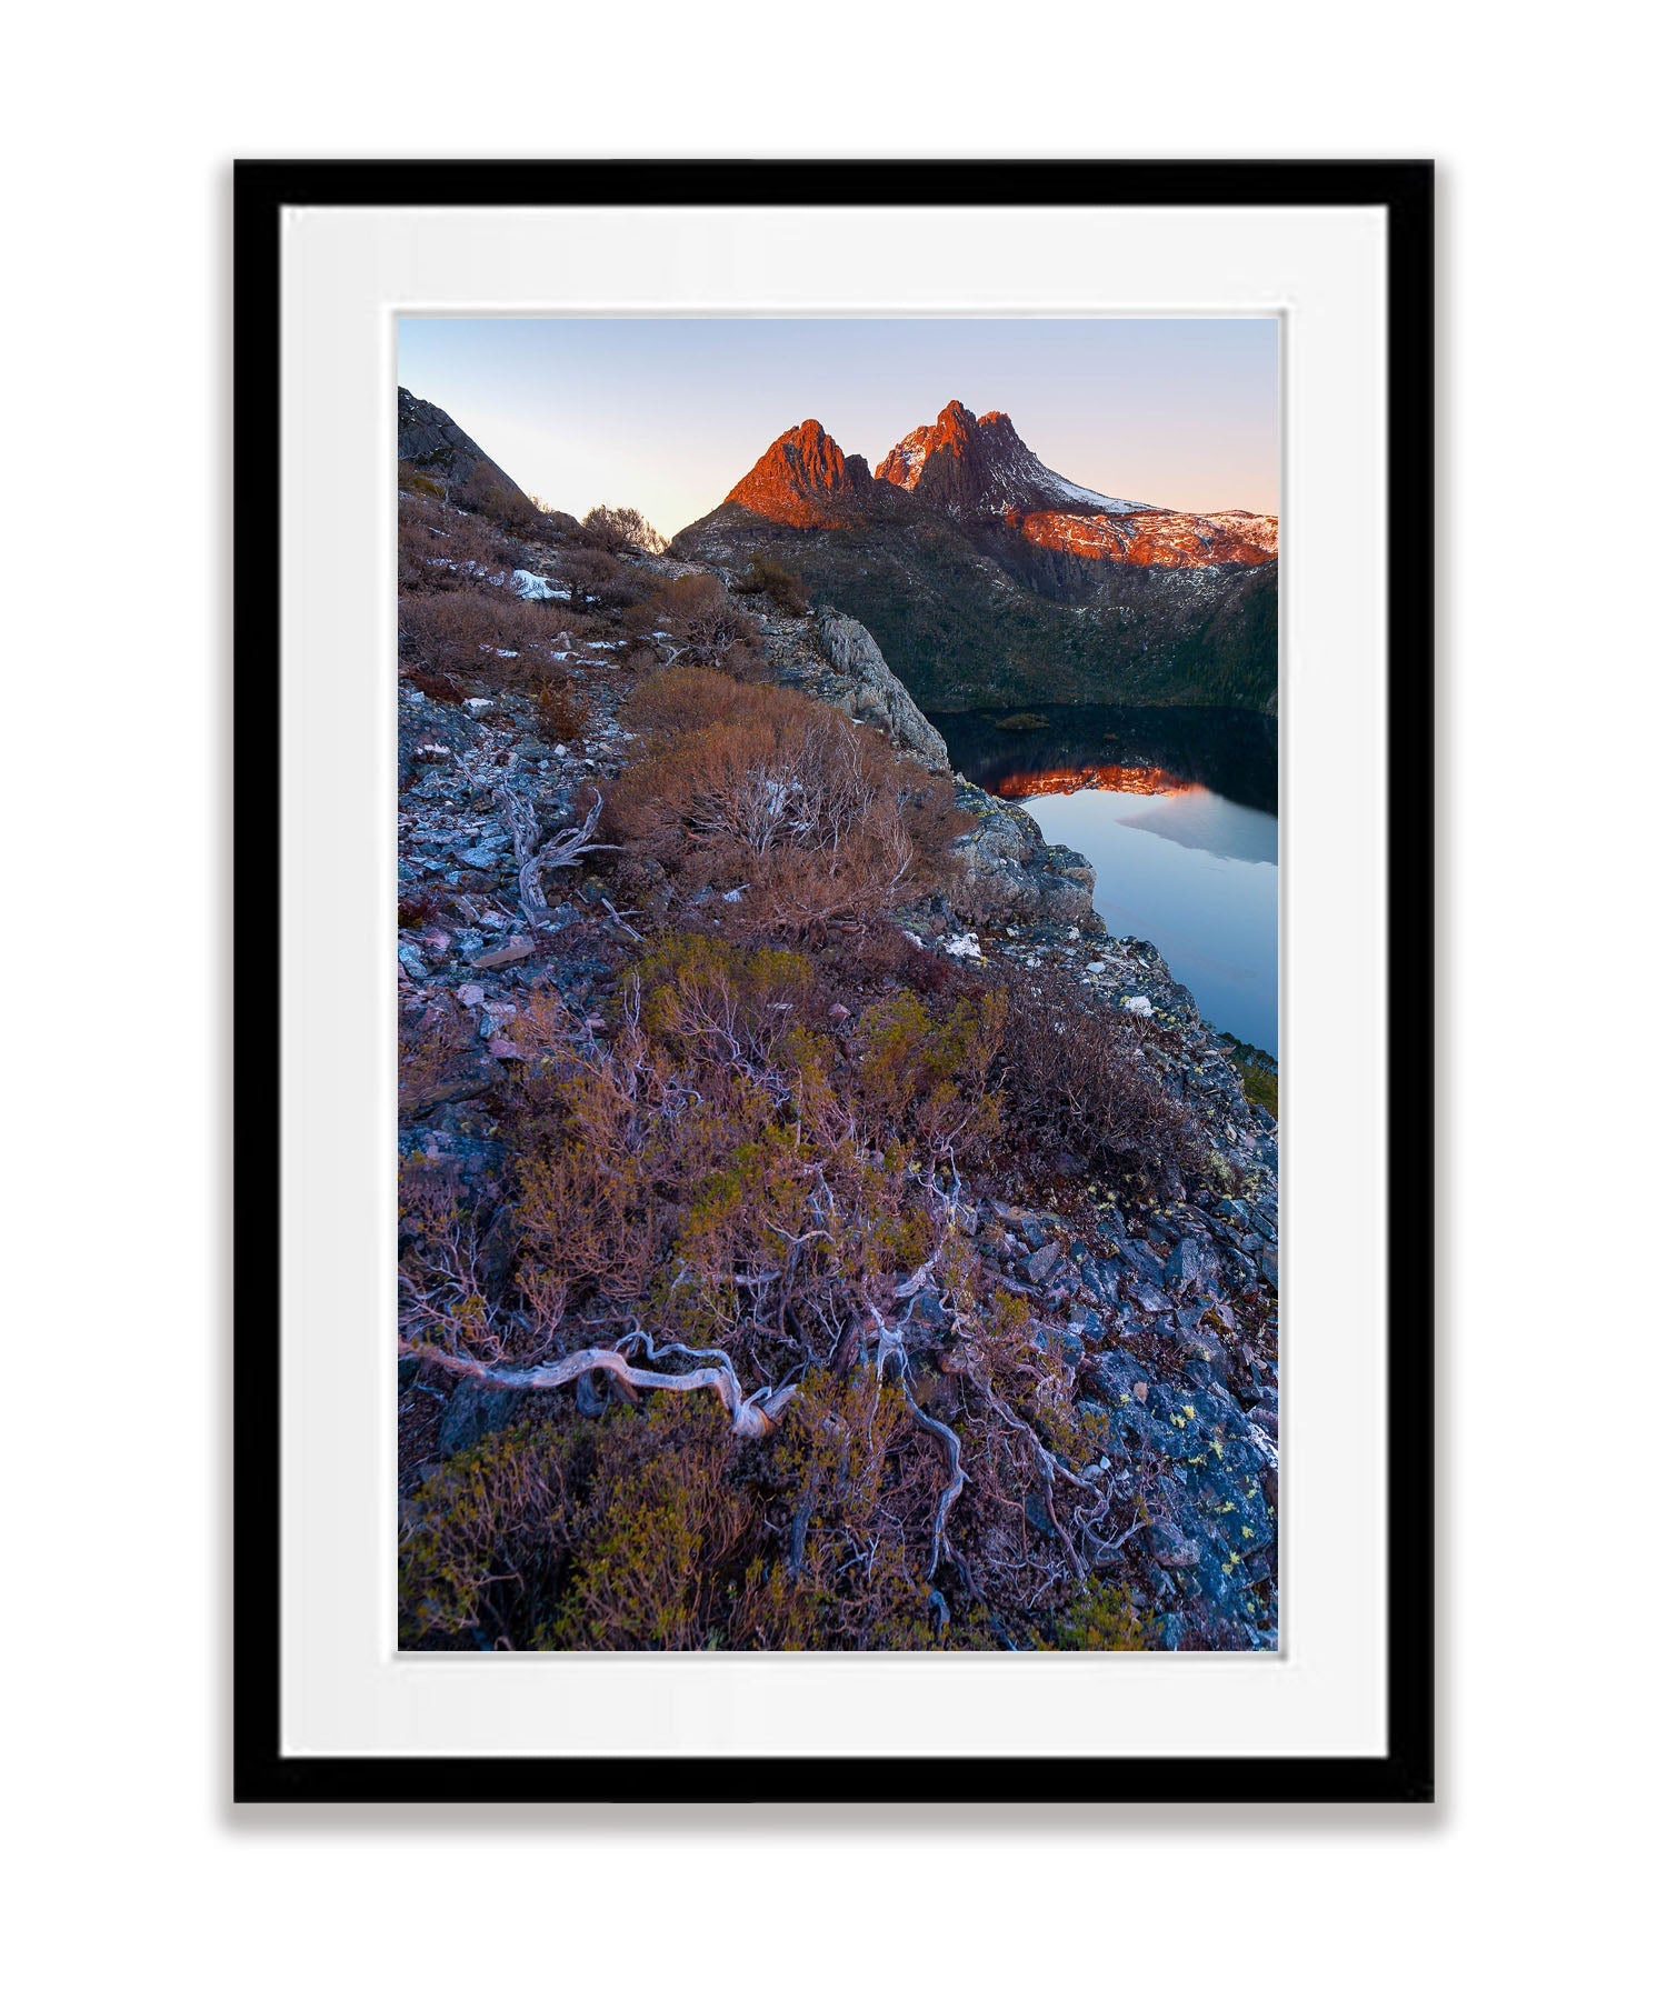
<svg viewBox="0 0 1667 2000">
<path fill-rule="evenodd" d="M 933 716 L 975 784 L 1087 854 L 1113 936 L 1151 938 L 1217 1028 L 1279 1054 L 1279 732 L 1223 708 Z"/>
</svg>

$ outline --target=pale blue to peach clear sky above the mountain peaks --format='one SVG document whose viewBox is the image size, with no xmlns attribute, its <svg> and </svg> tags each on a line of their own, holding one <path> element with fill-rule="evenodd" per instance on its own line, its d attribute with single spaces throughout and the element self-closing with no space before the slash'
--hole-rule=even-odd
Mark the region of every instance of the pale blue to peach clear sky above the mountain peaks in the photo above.
<svg viewBox="0 0 1667 2000">
<path fill-rule="evenodd" d="M 674 534 L 806 416 L 877 466 L 959 398 L 1065 478 L 1279 512 L 1279 322 L 400 320 L 400 382 L 526 492 Z"/>
</svg>

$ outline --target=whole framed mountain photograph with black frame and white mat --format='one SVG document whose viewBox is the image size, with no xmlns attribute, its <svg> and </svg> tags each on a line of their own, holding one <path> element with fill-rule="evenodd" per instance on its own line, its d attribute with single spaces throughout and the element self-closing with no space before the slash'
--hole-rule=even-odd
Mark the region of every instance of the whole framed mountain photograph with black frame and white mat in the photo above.
<svg viewBox="0 0 1667 2000">
<path fill-rule="evenodd" d="M 238 166 L 238 1800 L 1433 1798 L 1431 244 Z"/>
</svg>

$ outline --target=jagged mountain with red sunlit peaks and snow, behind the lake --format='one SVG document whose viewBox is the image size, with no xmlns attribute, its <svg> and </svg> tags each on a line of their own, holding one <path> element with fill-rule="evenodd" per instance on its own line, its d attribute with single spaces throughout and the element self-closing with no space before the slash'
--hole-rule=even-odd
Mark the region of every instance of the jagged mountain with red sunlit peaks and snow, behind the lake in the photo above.
<svg viewBox="0 0 1667 2000">
<path fill-rule="evenodd" d="M 951 402 L 873 474 L 806 418 L 674 550 L 784 562 L 927 708 L 1277 704 L 1277 518 L 1079 486 L 1001 410 Z"/>
</svg>

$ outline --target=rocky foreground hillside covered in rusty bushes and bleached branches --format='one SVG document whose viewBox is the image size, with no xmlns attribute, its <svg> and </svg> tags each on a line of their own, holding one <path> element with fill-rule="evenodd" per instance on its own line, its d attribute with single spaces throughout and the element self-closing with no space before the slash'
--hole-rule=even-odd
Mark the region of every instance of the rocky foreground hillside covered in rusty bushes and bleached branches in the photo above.
<svg viewBox="0 0 1667 2000">
<path fill-rule="evenodd" d="M 1083 858 L 845 612 L 400 570 L 402 1642 L 1277 1644 L 1277 1126 Z"/>
</svg>

